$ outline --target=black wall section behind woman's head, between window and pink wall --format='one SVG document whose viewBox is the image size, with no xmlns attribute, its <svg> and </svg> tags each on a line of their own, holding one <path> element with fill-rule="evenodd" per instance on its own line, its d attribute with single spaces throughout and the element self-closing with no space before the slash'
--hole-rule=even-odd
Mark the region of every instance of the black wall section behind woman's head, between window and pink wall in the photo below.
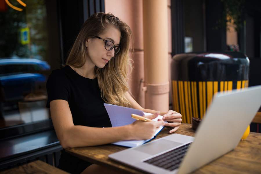
<svg viewBox="0 0 261 174">
<path fill-rule="evenodd" d="M 65 63 L 68 52 L 82 24 L 95 12 L 105 12 L 104 0 L 58 0 L 61 59 Z"/>
</svg>

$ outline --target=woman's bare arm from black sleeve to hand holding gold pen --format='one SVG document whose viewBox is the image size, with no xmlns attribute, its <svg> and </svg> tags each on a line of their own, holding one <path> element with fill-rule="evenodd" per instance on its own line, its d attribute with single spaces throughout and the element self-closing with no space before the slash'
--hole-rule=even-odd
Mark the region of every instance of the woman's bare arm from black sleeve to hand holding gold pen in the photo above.
<svg viewBox="0 0 261 174">
<path fill-rule="evenodd" d="M 95 146 L 128 139 L 149 139 L 157 127 L 164 125 L 163 121 L 136 121 L 127 126 L 113 128 L 75 126 L 66 100 L 51 101 L 50 111 L 56 135 L 63 148 Z"/>
</svg>

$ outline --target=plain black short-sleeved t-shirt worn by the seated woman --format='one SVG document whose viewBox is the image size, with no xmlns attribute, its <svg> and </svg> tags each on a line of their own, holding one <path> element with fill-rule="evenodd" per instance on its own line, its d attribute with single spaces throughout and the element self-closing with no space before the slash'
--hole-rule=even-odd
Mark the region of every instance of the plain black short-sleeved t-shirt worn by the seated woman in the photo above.
<svg viewBox="0 0 261 174">
<path fill-rule="evenodd" d="M 46 107 L 50 108 L 50 102 L 55 99 L 68 101 L 74 125 L 111 127 L 97 78 L 85 78 L 70 66 L 65 66 L 52 71 L 46 88 L 48 93 Z"/>
</svg>

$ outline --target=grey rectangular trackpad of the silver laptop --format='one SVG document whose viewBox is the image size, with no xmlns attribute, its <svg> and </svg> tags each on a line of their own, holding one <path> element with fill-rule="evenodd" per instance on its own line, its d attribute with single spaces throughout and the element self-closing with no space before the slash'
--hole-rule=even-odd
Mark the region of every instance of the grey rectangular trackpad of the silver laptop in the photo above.
<svg viewBox="0 0 261 174">
<path fill-rule="evenodd" d="M 171 149 L 175 146 L 180 146 L 182 143 L 169 141 L 166 139 L 160 139 L 158 141 L 155 141 L 153 143 L 145 144 L 143 146 L 134 148 L 133 150 L 140 151 L 143 153 L 148 153 L 150 155 L 156 155 L 160 152 L 166 151 L 168 149 Z"/>
</svg>

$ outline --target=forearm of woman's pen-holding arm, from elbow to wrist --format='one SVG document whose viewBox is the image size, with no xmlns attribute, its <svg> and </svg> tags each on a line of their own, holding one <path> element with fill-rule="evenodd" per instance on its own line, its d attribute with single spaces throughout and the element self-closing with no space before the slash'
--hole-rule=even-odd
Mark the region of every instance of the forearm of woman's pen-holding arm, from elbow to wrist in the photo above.
<svg viewBox="0 0 261 174">
<path fill-rule="evenodd" d="M 63 148 L 96 146 L 131 139 L 131 125 L 94 128 L 87 126 L 72 126 L 60 140 Z"/>
</svg>

